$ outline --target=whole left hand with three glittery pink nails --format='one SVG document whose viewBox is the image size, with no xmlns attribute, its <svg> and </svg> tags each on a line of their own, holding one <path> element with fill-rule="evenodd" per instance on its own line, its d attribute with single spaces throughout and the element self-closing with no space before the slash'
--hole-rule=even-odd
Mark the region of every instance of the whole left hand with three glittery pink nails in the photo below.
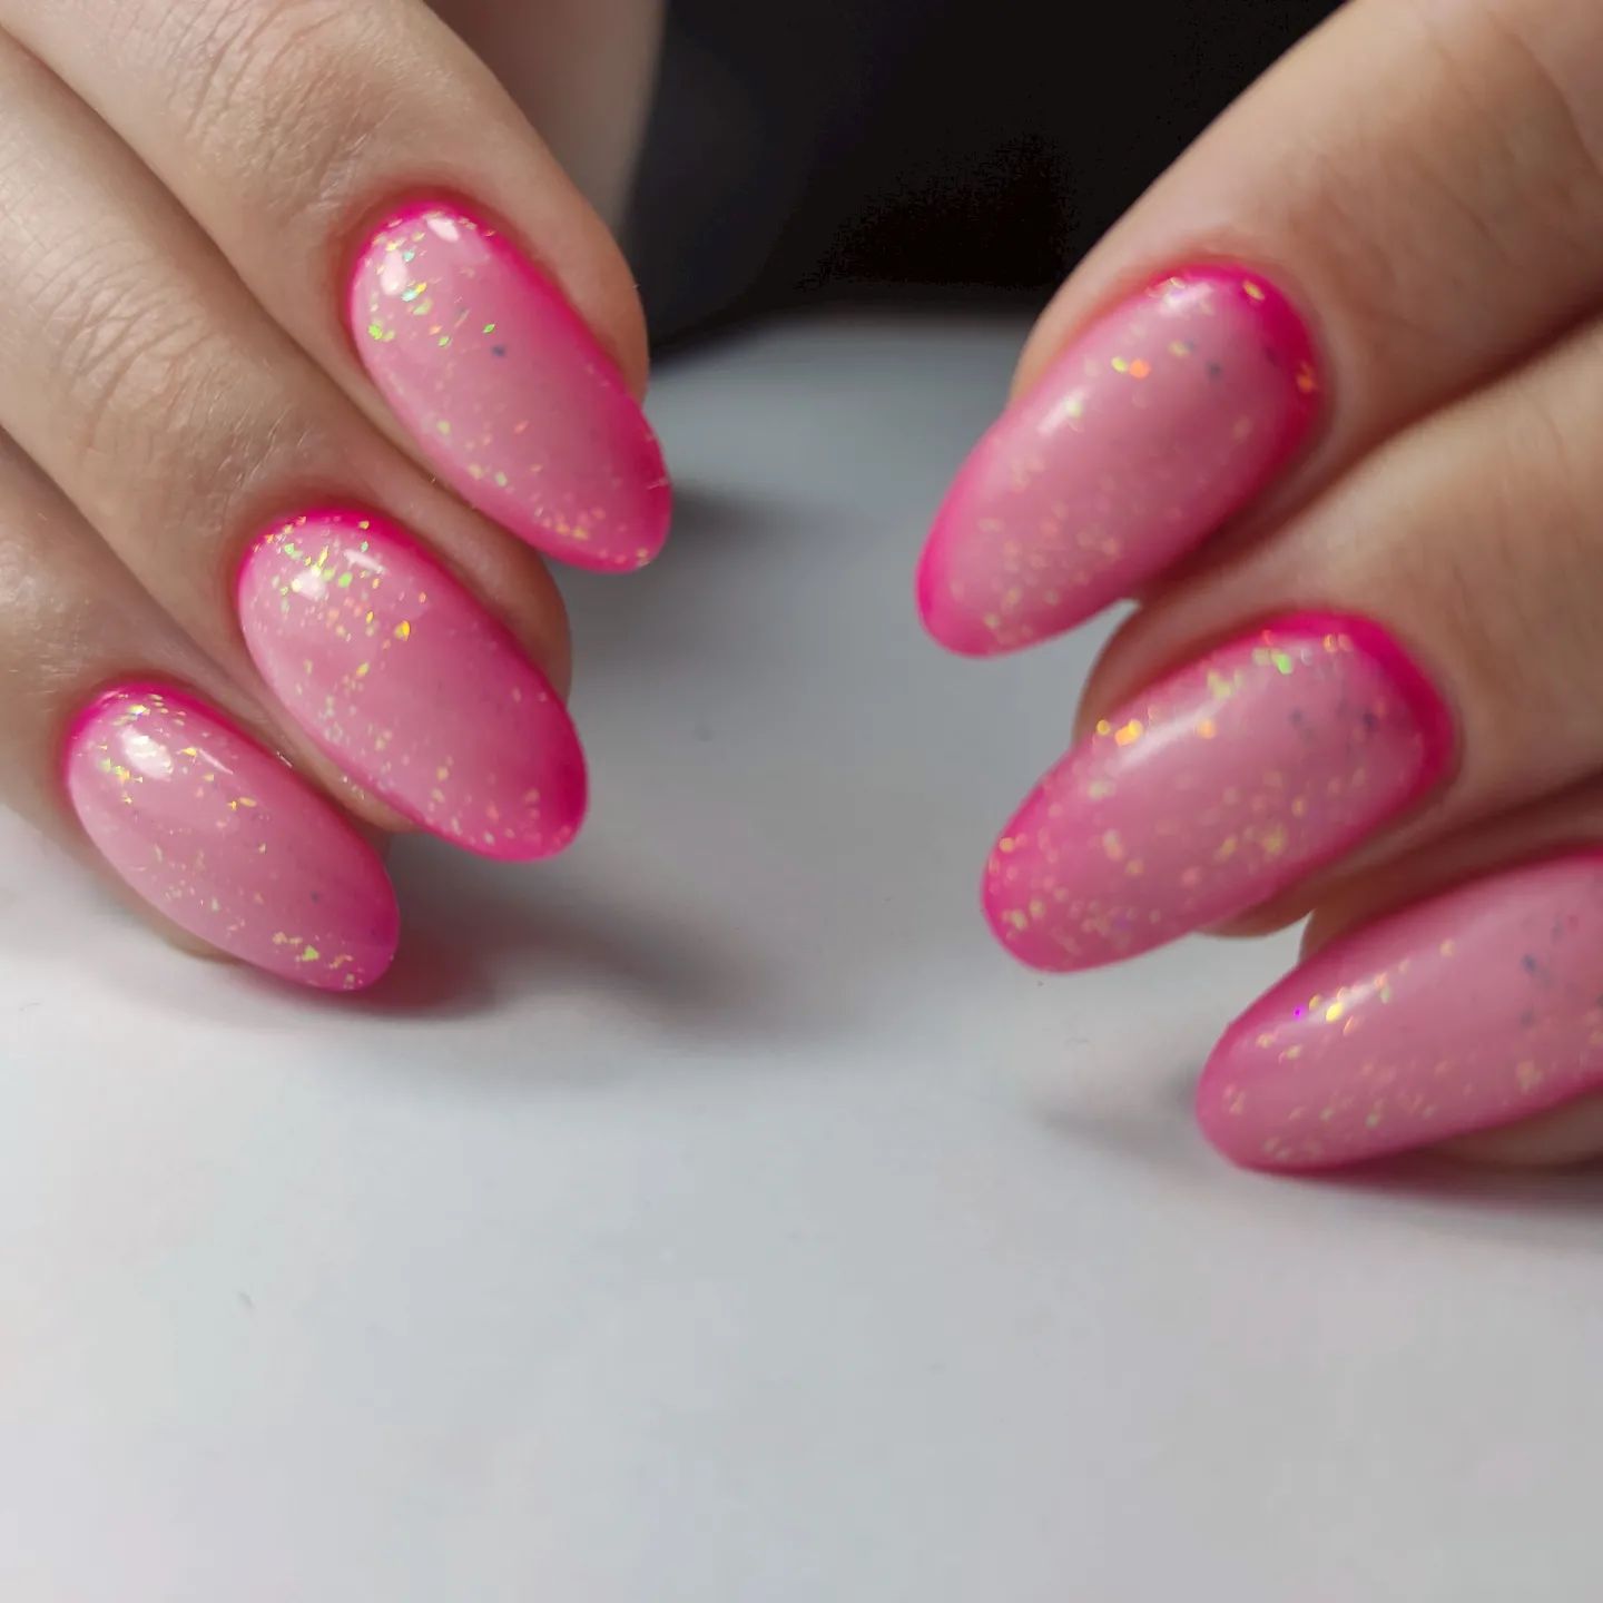
<svg viewBox="0 0 1603 1603">
<path fill-rule="evenodd" d="M 458 11 L 535 99 L 603 26 L 633 138 L 654 5 Z M 664 540 L 628 271 L 422 0 L 0 0 L 0 795 L 172 931 L 365 986 L 365 837 L 583 816 L 534 553 Z"/>
</svg>

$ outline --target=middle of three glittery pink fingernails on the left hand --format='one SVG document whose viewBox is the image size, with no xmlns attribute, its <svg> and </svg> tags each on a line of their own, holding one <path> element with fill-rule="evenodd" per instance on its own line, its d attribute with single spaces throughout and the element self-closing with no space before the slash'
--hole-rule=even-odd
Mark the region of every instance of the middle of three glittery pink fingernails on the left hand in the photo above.
<svg viewBox="0 0 1603 1603">
<path fill-rule="evenodd" d="M 486 858 L 571 845 L 585 761 L 511 633 L 372 513 L 306 513 L 239 572 L 245 646 L 290 717 L 357 784 Z"/>
</svg>

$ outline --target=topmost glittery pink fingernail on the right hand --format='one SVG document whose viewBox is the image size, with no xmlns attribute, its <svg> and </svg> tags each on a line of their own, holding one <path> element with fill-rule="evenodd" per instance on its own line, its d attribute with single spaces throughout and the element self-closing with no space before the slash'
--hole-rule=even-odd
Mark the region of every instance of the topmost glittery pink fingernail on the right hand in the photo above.
<svg viewBox="0 0 1603 1603">
<path fill-rule="evenodd" d="M 1318 390 L 1308 330 L 1262 274 L 1181 268 L 1132 295 L 959 471 L 919 569 L 925 627 L 992 656 L 1129 596 L 1265 489 Z"/>
</svg>

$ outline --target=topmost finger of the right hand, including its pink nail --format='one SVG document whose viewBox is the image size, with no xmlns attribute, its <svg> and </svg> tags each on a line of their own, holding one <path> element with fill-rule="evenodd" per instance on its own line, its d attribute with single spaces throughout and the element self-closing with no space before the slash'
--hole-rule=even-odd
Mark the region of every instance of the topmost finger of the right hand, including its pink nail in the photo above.
<svg viewBox="0 0 1603 1603">
<path fill-rule="evenodd" d="M 1231 542 L 1258 537 L 1571 327 L 1600 277 L 1603 10 L 1355 0 L 1042 317 L 936 519 L 925 622 L 955 651 L 1010 651 L 1230 519 Z"/>
</svg>

